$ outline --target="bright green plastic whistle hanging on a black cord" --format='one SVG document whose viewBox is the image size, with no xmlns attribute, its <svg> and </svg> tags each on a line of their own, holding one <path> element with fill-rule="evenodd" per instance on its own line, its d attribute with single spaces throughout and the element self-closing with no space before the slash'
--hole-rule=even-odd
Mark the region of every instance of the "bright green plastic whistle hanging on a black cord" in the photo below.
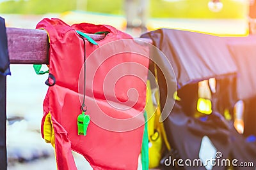
<svg viewBox="0 0 256 170">
<path fill-rule="evenodd" d="M 86 136 L 87 127 L 90 123 L 90 116 L 85 115 L 84 111 L 77 117 L 77 129 L 78 129 L 78 135 Z"/>
</svg>

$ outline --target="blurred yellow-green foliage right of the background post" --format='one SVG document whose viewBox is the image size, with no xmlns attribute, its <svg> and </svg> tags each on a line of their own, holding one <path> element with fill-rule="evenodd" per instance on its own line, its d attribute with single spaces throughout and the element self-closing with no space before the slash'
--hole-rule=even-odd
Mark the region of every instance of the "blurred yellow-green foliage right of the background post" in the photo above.
<svg viewBox="0 0 256 170">
<path fill-rule="evenodd" d="M 150 3 L 151 17 L 172 18 L 244 18 L 248 6 L 244 2 L 221 0 L 223 8 L 220 12 L 212 12 L 208 8 L 210 0 L 157 1 Z"/>
</svg>

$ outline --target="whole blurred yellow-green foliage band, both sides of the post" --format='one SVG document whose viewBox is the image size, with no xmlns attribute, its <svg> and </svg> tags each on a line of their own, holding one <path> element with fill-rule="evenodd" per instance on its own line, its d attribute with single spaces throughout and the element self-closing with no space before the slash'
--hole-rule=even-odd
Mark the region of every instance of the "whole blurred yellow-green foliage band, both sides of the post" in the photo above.
<svg viewBox="0 0 256 170">
<path fill-rule="evenodd" d="M 80 0 L 83 1 L 83 0 Z M 125 0 L 86 0 L 79 10 L 124 15 Z M 83 2 L 86 2 L 85 0 Z M 214 13 L 208 9 L 209 0 L 150 1 L 150 17 L 168 18 L 244 18 L 248 8 L 239 1 L 221 0 L 223 9 Z M 70 0 L 20 0 L 0 4 L 0 13 L 44 14 L 77 10 L 76 1 Z"/>
</svg>

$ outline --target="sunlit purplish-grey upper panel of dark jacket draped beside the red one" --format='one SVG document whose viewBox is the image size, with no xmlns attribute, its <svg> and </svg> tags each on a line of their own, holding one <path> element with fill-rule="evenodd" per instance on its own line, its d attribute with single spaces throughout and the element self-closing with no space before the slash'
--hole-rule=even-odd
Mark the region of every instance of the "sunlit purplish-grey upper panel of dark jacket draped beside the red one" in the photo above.
<svg viewBox="0 0 256 170">
<path fill-rule="evenodd" d="M 236 64 L 225 40 L 220 37 L 175 29 L 158 29 L 141 37 L 152 39 L 153 44 L 166 55 L 179 89 L 188 83 L 212 77 L 236 75 Z M 161 69 L 171 68 L 161 66 Z"/>
</svg>

